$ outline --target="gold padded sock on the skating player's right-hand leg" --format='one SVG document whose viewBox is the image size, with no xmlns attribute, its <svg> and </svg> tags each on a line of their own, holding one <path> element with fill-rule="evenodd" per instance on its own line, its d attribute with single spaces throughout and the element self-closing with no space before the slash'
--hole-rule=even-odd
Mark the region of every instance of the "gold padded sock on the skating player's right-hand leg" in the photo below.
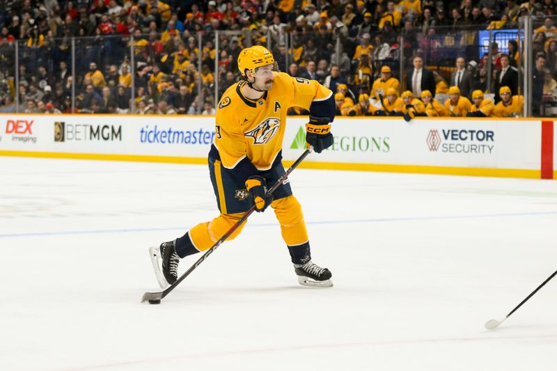
<svg viewBox="0 0 557 371">
<path fill-rule="evenodd" d="M 294 196 L 274 200 L 271 206 L 281 224 L 281 233 L 287 245 L 299 245 L 308 241 L 308 230 L 301 212 L 301 205 Z"/>
</svg>

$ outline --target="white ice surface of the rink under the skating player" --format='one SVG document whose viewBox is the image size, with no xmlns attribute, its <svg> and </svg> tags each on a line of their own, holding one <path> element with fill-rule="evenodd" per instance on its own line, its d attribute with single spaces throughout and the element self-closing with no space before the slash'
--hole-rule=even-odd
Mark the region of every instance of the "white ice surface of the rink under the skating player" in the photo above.
<svg viewBox="0 0 557 371">
<path fill-rule="evenodd" d="M 557 281 L 484 329 L 557 269 L 557 182 L 291 183 L 333 288 L 298 285 L 269 210 L 149 306 L 148 246 L 217 215 L 205 166 L 0 158 L 0 370 L 557 369 Z"/>
</svg>

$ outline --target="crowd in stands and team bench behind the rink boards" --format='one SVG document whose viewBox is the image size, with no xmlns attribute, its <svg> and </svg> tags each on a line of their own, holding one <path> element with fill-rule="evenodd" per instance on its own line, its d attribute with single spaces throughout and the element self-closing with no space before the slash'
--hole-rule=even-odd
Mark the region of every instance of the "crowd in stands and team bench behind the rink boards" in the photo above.
<svg viewBox="0 0 557 371">
<path fill-rule="evenodd" d="M 478 31 L 533 15 L 541 115 L 557 95 L 557 0 L 524 1 L 0 1 L 0 112 L 214 114 L 215 79 L 220 97 L 242 48 L 263 45 L 281 70 L 331 88 L 338 114 L 490 116 L 521 102 L 524 56 L 511 38 L 489 61 Z M 238 32 L 219 33 L 217 55 L 213 31 Z M 478 91 L 493 109 L 473 111 Z"/>
</svg>

